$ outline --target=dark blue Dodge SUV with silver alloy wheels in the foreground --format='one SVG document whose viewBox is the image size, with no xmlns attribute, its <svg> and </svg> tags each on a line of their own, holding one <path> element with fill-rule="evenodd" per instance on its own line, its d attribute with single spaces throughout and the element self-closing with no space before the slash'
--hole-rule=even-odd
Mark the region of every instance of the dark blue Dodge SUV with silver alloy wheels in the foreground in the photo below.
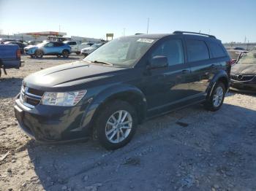
<svg viewBox="0 0 256 191">
<path fill-rule="evenodd" d="M 117 149 L 150 117 L 199 103 L 217 111 L 229 84 L 230 57 L 215 36 L 124 36 L 83 61 L 26 77 L 15 117 L 38 141 L 93 136 L 106 149 Z"/>
</svg>

